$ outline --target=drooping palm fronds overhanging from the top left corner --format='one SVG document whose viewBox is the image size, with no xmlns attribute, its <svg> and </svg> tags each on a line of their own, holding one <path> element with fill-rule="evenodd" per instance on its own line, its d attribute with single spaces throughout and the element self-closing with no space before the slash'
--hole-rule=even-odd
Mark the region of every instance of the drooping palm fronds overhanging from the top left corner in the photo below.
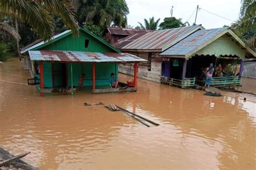
<svg viewBox="0 0 256 170">
<path fill-rule="evenodd" d="M 44 40 L 50 39 L 53 33 L 51 12 L 58 13 L 62 16 L 66 25 L 71 28 L 73 33 L 78 32 L 78 24 L 71 7 L 71 2 L 69 1 L 0 0 L 0 13 L 6 13 L 10 16 L 15 16 L 15 18 L 21 18 Z M 1 25 L 0 27 L 3 28 L 3 23 L 1 23 Z M 13 29 L 11 31 L 13 31 Z"/>
</svg>

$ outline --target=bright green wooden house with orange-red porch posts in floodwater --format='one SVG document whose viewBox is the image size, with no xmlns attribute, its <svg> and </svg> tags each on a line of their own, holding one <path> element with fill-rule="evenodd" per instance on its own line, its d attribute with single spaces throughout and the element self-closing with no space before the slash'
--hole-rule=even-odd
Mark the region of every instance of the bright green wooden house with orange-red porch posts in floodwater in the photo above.
<svg viewBox="0 0 256 170">
<path fill-rule="evenodd" d="M 28 54 L 30 74 L 35 77 L 34 83 L 40 84 L 42 96 L 54 90 L 70 89 L 73 93 L 82 74 L 86 75 L 83 86 L 91 87 L 93 93 L 111 92 L 100 89 L 110 88 L 111 73 L 118 78 L 119 63 L 133 62 L 137 70 L 138 62 L 146 61 L 120 52 L 86 29 L 79 30 L 79 37 L 67 30 L 53 36 L 51 41 L 38 40 L 21 53 Z M 131 90 L 137 90 L 137 76 Z"/>
</svg>

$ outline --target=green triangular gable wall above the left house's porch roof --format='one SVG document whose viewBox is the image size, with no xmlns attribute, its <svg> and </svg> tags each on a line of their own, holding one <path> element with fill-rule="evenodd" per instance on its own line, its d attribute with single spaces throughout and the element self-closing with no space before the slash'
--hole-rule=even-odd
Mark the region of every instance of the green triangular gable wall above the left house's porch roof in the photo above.
<svg viewBox="0 0 256 170">
<path fill-rule="evenodd" d="M 85 48 L 85 40 L 89 40 L 87 48 Z M 115 52 L 113 49 L 84 31 L 80 31 L 79 37 L 72 36 L 72 34 L 70 34 L 69 36 L 52 42 L 41 49 L 84 52 Z"/>
</svg>

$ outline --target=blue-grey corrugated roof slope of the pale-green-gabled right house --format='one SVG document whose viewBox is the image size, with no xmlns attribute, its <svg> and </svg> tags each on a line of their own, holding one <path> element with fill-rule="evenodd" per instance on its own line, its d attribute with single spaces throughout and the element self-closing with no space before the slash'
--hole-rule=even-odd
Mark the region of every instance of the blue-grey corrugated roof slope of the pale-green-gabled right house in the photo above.
<svg viewBox="0 0 256 170">
<path fill-rule="evenodd" d="M 184 55 L 185 57 L 185 55 L 199 48 L 201 45 L 218 36 L 220 33 L 224 33 L 226 30 L 227 28 L 198 30 L 160 55 Z"/>
</svg>

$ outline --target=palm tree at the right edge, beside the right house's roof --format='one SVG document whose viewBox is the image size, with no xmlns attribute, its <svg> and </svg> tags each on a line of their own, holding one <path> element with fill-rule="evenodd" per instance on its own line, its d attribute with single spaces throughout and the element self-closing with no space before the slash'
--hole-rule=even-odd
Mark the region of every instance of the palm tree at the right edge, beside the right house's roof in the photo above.
<svg viewBox="0 0 256 170">
<path fill-rule="evenodd" d="M 256 1 L 241 0 L 240 16 L 236 23 L 232 24 L 232 29 L 243 39 L 248 46 L 255 50 L 256 41 Z"/>
</svg>

